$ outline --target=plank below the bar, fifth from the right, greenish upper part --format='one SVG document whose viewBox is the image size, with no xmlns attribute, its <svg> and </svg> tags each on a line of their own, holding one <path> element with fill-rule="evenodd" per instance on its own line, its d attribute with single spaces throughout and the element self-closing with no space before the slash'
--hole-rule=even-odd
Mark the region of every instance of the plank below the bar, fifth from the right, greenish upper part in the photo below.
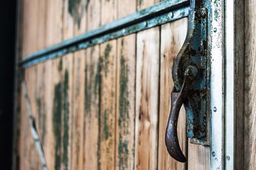
<svg viewBox="0 0 256 170">
<path fill-rule="evenodd" d="M 86 49 L 84 76 L 84 169 L 100 169 L 100 81 L 99 45 Z"/>
</svg>

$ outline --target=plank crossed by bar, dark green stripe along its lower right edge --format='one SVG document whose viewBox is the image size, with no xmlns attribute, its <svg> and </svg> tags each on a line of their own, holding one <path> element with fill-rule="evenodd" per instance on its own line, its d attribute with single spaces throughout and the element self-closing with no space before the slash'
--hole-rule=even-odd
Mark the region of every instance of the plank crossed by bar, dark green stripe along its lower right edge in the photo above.
<svg viewBox="0 0 256 170">
<path fill-rule="evenodd" d="M 46 1 L 46 46 L 63 39 L 63 1 Z M 54 17 L 52 17 L 54 16 Z M 61 168 L 61 71 L 60 59 L 45 62 L 45 158 L 49 169 Z"/>
</svg>

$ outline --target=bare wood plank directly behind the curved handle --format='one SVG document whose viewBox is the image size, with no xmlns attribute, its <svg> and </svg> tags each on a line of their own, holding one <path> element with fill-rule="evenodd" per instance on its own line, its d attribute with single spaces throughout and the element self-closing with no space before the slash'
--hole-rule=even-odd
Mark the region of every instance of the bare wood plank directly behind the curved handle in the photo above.
<svg viewBox="0 0 256 170">
<path fill-rule="evenodd" d="M 167 152 L 165 146 L 165 131 L 171 109 L 173 60 L 184 43 L 187 30 L 188 18 L 161 26 L 158 169 L 186 169 L 186 164 L 172 159 Z M 187 155 L 186 113 L 183 107 L 179 115 L 178 135 L 182 152 L 184 155 Z"/>
</svg>

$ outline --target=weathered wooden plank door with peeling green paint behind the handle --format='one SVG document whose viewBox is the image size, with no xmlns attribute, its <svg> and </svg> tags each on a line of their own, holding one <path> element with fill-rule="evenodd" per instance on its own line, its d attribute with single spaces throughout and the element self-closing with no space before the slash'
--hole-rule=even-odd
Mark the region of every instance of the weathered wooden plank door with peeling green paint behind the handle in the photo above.
<svg viewBox="0 0 256 170">
<path fill-rule="evenodd" d="M 114 38 L 106 31 L 86 39 L 120 18 L 169 3 L 176 6 L 162 9 L 168 15 L 148 14 L 159 15 L 159 24 L 144 18 L 140 27 L 125 25 L 124 36 L 116 28 Z M 188 140 L 184 108 L 178 134 L 188 162 L 172 159 L 164 143 L 173 60 L 186 38 L 188 9 L 183 0 L 19 1 L 17 59 L 49 51 L 20 69 L 49 169 L 210 169 L 210 146 Z M 66 51 L 48 48 L 65 43 Z M 21 92 L 13 164 L 42 169 Z"/>
</svg>

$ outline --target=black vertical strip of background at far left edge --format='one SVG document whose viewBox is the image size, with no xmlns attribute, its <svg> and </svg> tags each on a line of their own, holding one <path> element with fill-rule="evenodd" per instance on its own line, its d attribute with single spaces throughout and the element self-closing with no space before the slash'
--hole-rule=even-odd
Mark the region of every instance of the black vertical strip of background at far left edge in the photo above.
<svg viewBox="0 0 256 170">
<path fill-rule="evenodd" d="M 16 1 L 0 6 L 0 169 L 12 169 Z"/>
</svg>

